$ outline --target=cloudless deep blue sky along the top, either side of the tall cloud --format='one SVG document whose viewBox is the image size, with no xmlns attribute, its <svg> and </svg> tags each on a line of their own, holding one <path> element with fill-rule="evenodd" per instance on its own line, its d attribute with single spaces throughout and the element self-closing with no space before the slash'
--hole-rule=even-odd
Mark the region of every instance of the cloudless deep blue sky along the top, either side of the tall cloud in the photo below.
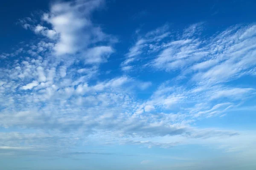
<svg viewBox="0 0 256 170">
<path fill-rule="evenodd" d="M 17 19 L 28 17 L 33 12 L 47 11 L 51 2 L 3 1 L 0 19 L 5 25 L 1 27 L 0 36 L 6 43 L 0 50 L 31 38 L 27 31 L 15 26 Z M 109 0 L 106 8 L 93 13 L 93 20 L 102 25 L 107 33 L 117 34 L 131 42 L 135 29 L 143 28 L 146 32 L 154 29 L 154 25 L 164 23 L 172 24 L 173 28 L 183 28 L 188 24 L 207 21 L 212 31 L 216 31 L 230 25 L 255 22 L 252 17 L 256 16 L 255 5 L 254 0 L 160 0 L 157 5 L 154 0 Z"/>
</svg>

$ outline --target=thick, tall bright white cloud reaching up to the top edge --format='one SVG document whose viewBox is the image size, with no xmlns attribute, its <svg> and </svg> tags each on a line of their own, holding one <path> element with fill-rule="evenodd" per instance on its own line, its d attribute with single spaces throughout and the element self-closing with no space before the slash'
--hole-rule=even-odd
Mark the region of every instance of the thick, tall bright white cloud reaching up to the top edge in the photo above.
<svg viewBox="0 0 256 170">
<path fill-rule="evenodd" d="M 90 20 L 90 13 L 99 8 L 103 2 L 103 0 L 76 0 L 73 3 L 54 3 L 50 13 L 44 14 L 43 19 L 51 24 L 59 35 L 58 43 L 54 47 L 57 55 L 74 54 L 87 48 L 92 42 L 109 39 L 101 28 L 93 26 Z M 48 31 L 47 34 L 53 32 Z M 93 58 L 90 62 L 93 62 Z"/>
</svg>

